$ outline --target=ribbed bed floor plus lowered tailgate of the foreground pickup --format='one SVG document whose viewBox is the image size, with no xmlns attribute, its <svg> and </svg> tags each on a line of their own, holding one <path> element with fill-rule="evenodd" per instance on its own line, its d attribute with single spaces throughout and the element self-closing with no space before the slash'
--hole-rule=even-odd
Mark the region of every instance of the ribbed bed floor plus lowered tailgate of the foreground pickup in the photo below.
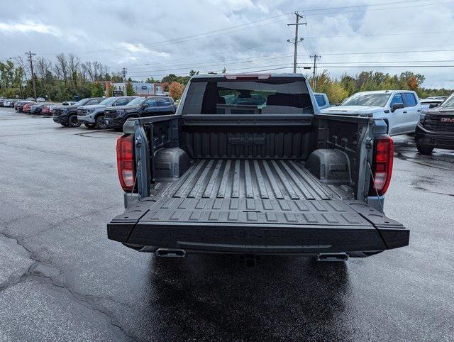
<svg viewBox="0 0 454 342">
<path fill-rule="evenodd" d="M 327 185 L 301 160 L 196 160 L 175 182 L 116 216 L 109 238 L 195 252 L 314 253 L 384 250 L 408 231 L 348 186 Z"/>
</svg>

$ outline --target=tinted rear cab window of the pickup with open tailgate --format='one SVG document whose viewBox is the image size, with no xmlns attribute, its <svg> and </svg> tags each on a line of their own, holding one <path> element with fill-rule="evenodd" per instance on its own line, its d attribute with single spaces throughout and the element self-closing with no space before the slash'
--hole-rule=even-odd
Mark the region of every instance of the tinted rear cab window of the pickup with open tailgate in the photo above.
<svg viewBox="0 0 454 342">
<path fill-rule="evenodd" d="M 192 79 L 183 115 L 314 114 L 304 79 Z"/>
</svg>

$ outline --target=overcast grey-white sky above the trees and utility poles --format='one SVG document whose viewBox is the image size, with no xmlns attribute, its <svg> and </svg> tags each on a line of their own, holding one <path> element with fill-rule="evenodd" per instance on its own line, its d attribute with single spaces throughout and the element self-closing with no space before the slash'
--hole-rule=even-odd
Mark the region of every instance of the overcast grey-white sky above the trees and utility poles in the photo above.
<svg viewBox="0 0 454 342">
<path fill-rule="evenodd" d="M 31 50 L 53 59 L 74 53 L 128 77 L 169 73 L 291 72 L 294 11 L 300 26 L 299 66 L 334 77 L 361 70 L 426 76 L 425 87 L 454 88 L 454 1 L 328 0 L 1 0 L 0 60 Z M 365 5 L 365 6 L 363 6 Z M 423 52 L 418 52 L 424 50 Z M 441 51 L 443 50 L 443 51 Z M 419 62 L 423 61 L 423 62 Z M 364 65 L 362 68 L 347 66 Z M 385 67 L 404 65 L 405 67 Z M 282 69 L 278 69 L 282 68 Z M 300 69 L 301 72 L 308 72 Z M 311 72 L 311 71 L 310 71 Z"/>
</svg>

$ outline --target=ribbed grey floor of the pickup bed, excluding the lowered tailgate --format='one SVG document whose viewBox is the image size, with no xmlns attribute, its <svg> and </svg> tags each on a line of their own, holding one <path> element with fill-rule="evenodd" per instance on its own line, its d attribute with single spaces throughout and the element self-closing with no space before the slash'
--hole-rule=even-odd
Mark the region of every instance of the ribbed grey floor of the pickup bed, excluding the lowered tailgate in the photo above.
<svg viewBox="0 0 454 342">
<path fill-rule="evenodd" d="M 300 160 L 196 160 L 167 193 L 175 198 L 339 199 Z"/>
</svg>

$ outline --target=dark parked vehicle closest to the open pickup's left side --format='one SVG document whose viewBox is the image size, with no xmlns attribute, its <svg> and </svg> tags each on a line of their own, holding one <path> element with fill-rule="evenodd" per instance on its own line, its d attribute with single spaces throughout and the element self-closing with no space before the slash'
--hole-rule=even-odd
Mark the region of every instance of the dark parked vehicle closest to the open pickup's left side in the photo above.
<svg viewBox="0 0 454 342">
<path fill-rule="evenodd" d="M 126 106 L 107 107 L 104 117 L 108 128 L 123 127 L 128 118 L 175 114 L 177 107 L 172 97 L 136 97 Z"/>
</svg>

